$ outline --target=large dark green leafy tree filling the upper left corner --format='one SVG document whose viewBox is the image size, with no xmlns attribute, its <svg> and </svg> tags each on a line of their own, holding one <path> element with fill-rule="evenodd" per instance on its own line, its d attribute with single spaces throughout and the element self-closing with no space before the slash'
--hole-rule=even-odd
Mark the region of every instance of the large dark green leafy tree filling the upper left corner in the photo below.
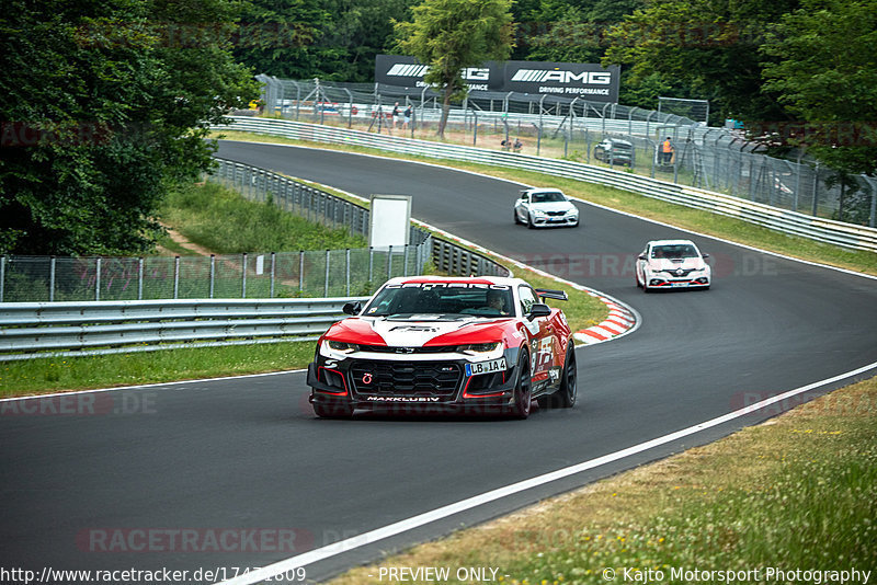
<svg viewBox="0 0 877 585">
<path fill-rule="evenodd" d="M 208 126 L 258 95 L 229 55 L 235 3 L 7 4 L 0 251 L 150 249 L 168 186 L 210 165 Z"/>
</svg>

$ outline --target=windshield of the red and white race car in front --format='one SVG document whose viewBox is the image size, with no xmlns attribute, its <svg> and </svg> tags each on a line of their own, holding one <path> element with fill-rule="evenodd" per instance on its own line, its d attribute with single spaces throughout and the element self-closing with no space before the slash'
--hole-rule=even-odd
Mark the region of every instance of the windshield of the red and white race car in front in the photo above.
<svg viewBox="0 0 877 585">
<path fill-rule="evenodd" d="M 454 286 L 385 287 L 362 313 L 365 317 L 409 319 L 430 316 L 433 319 L 475 316 L 512 317 L 514 303 L 511 288 L 476 288 Z"/>
</svg>

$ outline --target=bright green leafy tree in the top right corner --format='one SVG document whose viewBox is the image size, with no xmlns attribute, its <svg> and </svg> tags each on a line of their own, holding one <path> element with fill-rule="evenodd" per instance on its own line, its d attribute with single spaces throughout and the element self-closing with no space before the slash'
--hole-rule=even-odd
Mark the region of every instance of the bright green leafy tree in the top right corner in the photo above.
<svg viewBox="0 0 877 585">
<path fill-rule="evenodd" d="M 783 136 L 844 173 L 877 174 L 877 0 L 805 0 L 762 54 L 765 91 L 799 124 Z"/>
</svg>

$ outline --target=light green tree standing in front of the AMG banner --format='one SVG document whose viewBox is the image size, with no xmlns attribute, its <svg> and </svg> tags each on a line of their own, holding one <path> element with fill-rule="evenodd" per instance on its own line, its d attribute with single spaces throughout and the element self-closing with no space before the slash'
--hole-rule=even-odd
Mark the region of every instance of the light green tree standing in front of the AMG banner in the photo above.
<svg viewBox="0 0 877 585">
<path fill-rule="evenodd" d="M 424 0 L 413 22 L 395 22 L 402 51 L 429 65 L 424 81 L 442 93 L 438 136 L 444 137 L 452 99 L 465 95 L 462 70 L 512 51 L 512 0 Z"/>
</svg>

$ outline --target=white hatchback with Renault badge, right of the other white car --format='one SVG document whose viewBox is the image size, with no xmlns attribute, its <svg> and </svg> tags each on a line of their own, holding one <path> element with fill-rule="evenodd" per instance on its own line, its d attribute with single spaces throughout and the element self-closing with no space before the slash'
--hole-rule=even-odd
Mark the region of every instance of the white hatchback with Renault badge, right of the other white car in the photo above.
<svg viewBox="0 0 877 585">
<path fill-rule="evenodd" d="M 667 288 L 707 289 L 713 269 L 691 240 L 653 240 L 637 256 L 637 286 L 643 292 Z"/>
</svg>

